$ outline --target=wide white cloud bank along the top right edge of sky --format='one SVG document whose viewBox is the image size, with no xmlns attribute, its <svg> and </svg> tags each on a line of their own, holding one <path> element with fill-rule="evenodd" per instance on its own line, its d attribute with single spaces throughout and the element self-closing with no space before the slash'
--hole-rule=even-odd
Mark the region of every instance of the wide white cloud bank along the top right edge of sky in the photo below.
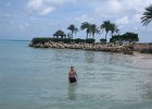
<svg viewBox="0 0 152 109">
<path fill-rule="evenodd" d="M 100 16 L 114 17 L 130 13 L 140 13 L 152 3 L 152 0 L 106 0 L 96 4 L 94 12 Z"/>
</svg>

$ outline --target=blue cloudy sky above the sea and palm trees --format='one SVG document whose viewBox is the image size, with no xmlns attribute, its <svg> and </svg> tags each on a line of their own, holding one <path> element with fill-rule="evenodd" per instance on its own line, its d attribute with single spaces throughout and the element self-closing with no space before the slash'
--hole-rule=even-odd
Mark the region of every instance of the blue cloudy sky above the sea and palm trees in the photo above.
<svg viewBox="0 0 152 109">
<path fill-rule="evenodd" d="M 142 26 L 140 19 L 150 3 L 152 0 L 0 0 L 0 39 L 52 37 L 58 29 L 68 33 L 71 24 L 100 26 L 110 20 L 119 34 L 137 33 L 141 43 L 152 43 L 152 22 Z M 104 36 L 103 32 L 96 38 Z M 86 38 L 86 32 L 79 29 L 74 38 Z"/>
</svg>

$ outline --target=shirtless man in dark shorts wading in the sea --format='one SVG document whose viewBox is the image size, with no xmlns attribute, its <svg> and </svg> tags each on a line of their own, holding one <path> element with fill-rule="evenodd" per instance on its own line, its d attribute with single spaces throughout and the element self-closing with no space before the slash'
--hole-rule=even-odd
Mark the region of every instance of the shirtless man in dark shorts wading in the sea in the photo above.
<svg viewBox="0 0 152 109">
<path fill-rule="evenodd" d="M 77 78 L 78 76 L 77 76 L 76 70 L 74 69 L 74 66 L 71 66 L 71 70 L 68 72 L 68 82 L 76 83 Z"/>
</svg>

